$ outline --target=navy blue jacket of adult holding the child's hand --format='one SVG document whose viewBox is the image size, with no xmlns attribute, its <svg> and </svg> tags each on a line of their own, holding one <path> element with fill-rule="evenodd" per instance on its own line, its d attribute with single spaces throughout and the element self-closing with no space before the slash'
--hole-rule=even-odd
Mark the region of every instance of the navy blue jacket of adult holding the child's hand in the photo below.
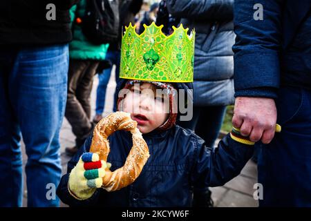
<svg viewBox="0 0 311 221">
<path fill-rule="evenodd" d="M 280 86 L 311 89 L 311 1 L 234 1 L 236 96 L 272 97 Z"/>
</svg>

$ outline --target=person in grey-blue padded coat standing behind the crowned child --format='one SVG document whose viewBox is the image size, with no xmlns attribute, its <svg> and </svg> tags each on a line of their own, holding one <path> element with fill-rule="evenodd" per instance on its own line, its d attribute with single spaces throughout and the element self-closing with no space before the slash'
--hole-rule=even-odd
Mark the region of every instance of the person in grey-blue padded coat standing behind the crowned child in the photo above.
<svg viewBox="0 0 311 221">
<path fill-rule="evenodd" d="M 173 17 L 181 18 L 180 23 L 189 30 L 196 30 L 194 117 L 178 124 L 195 131 L 207 146 L 213 147 L 226 106 L 234 103 L 234 1 L 167 0 L 166 3 Z M 211 205 L 208 195 L 208 188 L 196 189 L 197 205 Z"/>
</svg>

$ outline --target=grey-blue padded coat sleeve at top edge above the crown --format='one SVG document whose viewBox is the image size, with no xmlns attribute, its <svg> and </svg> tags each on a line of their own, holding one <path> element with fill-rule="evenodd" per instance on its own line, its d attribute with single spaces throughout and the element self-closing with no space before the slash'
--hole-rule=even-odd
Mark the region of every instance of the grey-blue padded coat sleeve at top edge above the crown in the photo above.
<svg viewBox="0 0 311 221">
<path fill-rule="evenodd" d="M 194 20 L 232 20 L 233 6 L 234 0 L 167 0 L 171 15 Z"/>
</svg>

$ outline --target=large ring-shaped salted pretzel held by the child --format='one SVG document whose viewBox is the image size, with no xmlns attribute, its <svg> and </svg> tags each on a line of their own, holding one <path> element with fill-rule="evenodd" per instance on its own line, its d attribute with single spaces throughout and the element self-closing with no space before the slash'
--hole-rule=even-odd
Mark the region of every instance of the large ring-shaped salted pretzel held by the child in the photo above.
<svg viewBox="0 0 311 221">
<path fill-rule="evenodd" d="M 132 184 L 149 158 L 149 148 L 137 128 L 137 122 L 131 119 L 129 113 L 122 111 L 111 113 L 98 122 L 93 132 L 90 151 L 100 155 L 100 160 L 106 162 L 110 152 L 107 138 L 115 131 L 121 130 L 131 131 L 133 146 L 121 168 L 113 172 L 108 167 L 106 168 L 106 173 L 102 178 L 102 188 L 106 191 L 117 191 Z"/>
</svg>

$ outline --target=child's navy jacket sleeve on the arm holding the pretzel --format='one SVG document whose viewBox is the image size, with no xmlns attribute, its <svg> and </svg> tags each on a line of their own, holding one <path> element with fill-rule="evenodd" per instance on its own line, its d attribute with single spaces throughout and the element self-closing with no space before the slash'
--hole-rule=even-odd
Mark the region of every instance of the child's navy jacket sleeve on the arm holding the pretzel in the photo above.
<svg viewBox="0 0 311 221">
<path fill-rule="evenodd" d="M 68 191 L 68 180 L 70 171 L 77 165 L 80 156 L 83 153 L 87 153 L 90 151 L 92 142 L 92 137 L 88 137 L 84 145 L 79 148 L 79 151 L 73 156 L 73 158 L 68 162 L 67 173 L 62 176 L 59 185 L 57 186 L 56 194 L 64 204 L 68 204 L 69 206 L 95 206 L 97 204 L 98 198 L 100 196 L 100 189 L 95 191 L 93 196 L 87 200 L 77 200 L 72 195 L 70 195 Z"/>
</svg>

